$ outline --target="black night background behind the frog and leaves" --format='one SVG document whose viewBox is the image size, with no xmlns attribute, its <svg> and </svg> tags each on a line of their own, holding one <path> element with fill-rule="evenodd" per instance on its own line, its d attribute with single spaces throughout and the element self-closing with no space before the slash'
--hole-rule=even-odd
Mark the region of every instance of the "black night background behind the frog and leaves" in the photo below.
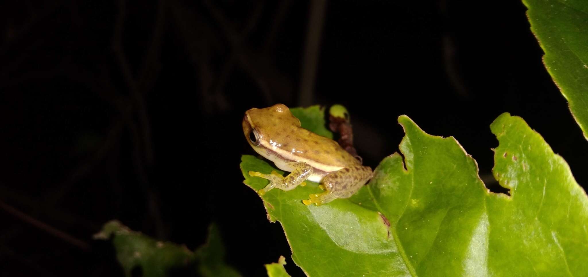
<svg viewBox="0 0 588 277">
<path fill-rule="evenodd" d="M 278 102 L 345 105 L 372 167 L 397 151 L 396 118 L 409 115 L 455 136 L 487 186 L 489 125 L 510 112 L 588 183 L 588 144 L 518 1 L 329 1 L 307 97 L 306 36 L 320 26 L 308 1 L 19 3 L 0 11 L 8 275 L 121 275 L 108 243 L 91 240 L 112 218 L 190 249 L 215 222 L 243 275 L 263 276 L 280 255 L 302 275 L 239 170 L 254 153 L 243 112 Z"/>
</svg>

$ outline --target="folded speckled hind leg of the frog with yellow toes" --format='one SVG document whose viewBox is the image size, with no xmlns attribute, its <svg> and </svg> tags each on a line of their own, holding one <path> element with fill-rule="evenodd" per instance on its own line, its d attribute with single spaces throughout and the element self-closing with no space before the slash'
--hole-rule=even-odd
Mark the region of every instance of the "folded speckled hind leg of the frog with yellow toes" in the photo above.
<svg viewBox="0 0 588 277">
<path fill-rule="evenodd" d="M 322 180 L 325 191 L 322 193 L 310 194 L 308 200 L 302 203 L 316 206 L 329 203 L 338 198 L 349 198 L 355 194 L 363 184 L 372 178 L 372 169 L 368 166 L 348 166 L 343 169 L 331 172 Z"/>
</svg>

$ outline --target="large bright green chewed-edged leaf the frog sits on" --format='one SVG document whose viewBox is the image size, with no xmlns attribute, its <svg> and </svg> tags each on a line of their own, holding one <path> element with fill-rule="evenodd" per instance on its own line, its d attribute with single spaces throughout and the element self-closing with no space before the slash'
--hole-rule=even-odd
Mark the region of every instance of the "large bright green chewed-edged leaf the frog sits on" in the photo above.
<svg viewBox="0 0 588 277">
<path fill-rule="evenodd" d="M 564 160 L 522 118 L 492 124 L 500 145 L 494 174 L 506 194 L 489 192 L 453 137 L 423 132 L 406 116 L 403 158 L 385 158 L 350 199 L 323 206 L 301 200 L 316 183 L 262 197 L 282 224 L 292 259 L 309 276 L 557 276 L 588 271 L 588 199 Z M 506 154 L 505 154 L 506 153 Z M 405 169 L 406 166 L 406 169 Z M 245 184 L 276 170 L 242 156 Z"/>
</svg>

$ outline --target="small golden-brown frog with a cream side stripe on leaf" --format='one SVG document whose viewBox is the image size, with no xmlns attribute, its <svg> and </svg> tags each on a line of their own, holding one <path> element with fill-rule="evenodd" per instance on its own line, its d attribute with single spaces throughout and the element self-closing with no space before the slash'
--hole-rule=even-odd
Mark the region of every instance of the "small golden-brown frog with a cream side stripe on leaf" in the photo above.
<svg viewBox="0 0 588 277">
<path fill-rule="evenodd" d="M 306 180 L 320 183 L 321 193 L 309 194 L 305 205 L 320 206 L 335 199 L 355 194 L 373 176 L 371 167 L 363 166 L 333 139 L 320 136 L 300 126 L 284 104 L 268 108 L 252 108 L 243 117 L 243 134 L 255 152 L 273 162 L 289 175 L 275 170 L 270 174 L 249 171 L 250 176 L 269 180 L 258 191 L 293 190 L 305 186 Z"/>
</svg>

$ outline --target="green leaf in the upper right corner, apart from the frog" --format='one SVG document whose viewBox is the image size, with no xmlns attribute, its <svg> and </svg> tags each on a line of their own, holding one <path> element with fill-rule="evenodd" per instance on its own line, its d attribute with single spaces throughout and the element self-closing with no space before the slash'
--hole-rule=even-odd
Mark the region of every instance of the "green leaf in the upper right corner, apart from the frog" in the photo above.
<svg viewBox="0 0 588 277">
<path fill-rule="evenodd" d="M 588 139 L 588 2 L 523 0 L 543 63 Z"/>
</svg>

